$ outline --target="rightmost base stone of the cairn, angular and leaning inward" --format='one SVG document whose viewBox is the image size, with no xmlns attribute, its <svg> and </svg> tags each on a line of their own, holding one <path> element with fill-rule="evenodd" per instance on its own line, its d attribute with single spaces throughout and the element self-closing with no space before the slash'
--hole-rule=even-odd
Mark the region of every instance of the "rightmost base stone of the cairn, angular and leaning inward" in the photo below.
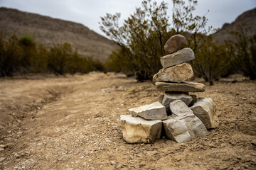
<svg viewBox="0 0 256 170">
<path fill-rule="evenodd" d="M 218 116 L 215 112 L 215 103 L 211 98 L 201 98 L 191 106 L 193 113 L 203 122 L 207 129 L 217 128 Z"/>
</svg>

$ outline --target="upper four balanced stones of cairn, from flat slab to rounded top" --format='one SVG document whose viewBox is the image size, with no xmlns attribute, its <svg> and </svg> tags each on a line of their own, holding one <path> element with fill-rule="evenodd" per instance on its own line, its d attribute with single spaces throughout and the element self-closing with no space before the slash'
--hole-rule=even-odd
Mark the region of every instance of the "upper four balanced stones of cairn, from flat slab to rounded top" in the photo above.
<svg viewBox="0 0 256 170">
<path fill-rule="evenodd" d="M 186 38 L 183 35 L 174 35 L 164 45 L 169 55 L 161 57 L 163 66 L 153 77 L 156 89 L 159 91 L 199 92 L 205 91 L 203 84 L 186 81 L 193 77 L 193 69 L 188 63 L 195 59 L 191 48 L 186 47 Z"/>
</svg>

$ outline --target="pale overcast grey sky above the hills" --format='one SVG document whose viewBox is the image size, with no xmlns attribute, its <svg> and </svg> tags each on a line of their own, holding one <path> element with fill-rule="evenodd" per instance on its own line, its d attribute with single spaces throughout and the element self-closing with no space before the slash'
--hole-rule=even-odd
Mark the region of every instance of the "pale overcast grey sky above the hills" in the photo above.
<svg viewBox="0 0 256 170">
<path fill-rule="evenodd" d="M 0 0 L 0 6 L 44 16 L 82 23 L 103 35 L 99 28 L 100 16 L 105 13 L 121 13 L 126 19 L 142 0 Z M 161 0 L 156 0 L 161 2 Z M 171 13 L 171 0 L 169 13 Z M 256 7 L 256 0 L 198 0 L 195 15 L 207 14 L 208 26 L 221 28 L 223 23 L 235 21 L 241 13 Z"/>
</svg>

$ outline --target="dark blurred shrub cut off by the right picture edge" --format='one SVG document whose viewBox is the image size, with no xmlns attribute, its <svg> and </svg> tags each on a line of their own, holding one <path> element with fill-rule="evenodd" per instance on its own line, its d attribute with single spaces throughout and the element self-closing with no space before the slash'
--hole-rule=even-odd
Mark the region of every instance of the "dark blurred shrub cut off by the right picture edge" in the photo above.
<svg viewBox="0 0 256 170">
<path fill-rule="evenodd" d="M 256 33 L 247 35 L 247 28 L 240 24 L 238 28 L 231 31 L 234 40 L 227 41 L 230 55 L 234 58 L 233 66 L 242 71 L 250 79 L 256 79 Z"/>
</svg>

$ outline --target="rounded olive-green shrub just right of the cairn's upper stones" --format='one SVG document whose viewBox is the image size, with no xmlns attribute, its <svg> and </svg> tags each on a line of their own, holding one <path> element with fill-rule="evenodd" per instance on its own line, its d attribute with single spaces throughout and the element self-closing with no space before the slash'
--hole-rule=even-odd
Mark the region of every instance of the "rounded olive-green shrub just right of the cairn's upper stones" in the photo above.
<svg viewBox="0 0 256 170">
<path fill-rule="evenodd" d="M 196 59 L 192 66 L 196 76 L 203 77 L 213 85 L 213 81 L 227 74 L 230 70 L 232 58 L 226 45 L 217 45 L 212 38 L 208 38 L 196 52 Z"/>
</svg>

